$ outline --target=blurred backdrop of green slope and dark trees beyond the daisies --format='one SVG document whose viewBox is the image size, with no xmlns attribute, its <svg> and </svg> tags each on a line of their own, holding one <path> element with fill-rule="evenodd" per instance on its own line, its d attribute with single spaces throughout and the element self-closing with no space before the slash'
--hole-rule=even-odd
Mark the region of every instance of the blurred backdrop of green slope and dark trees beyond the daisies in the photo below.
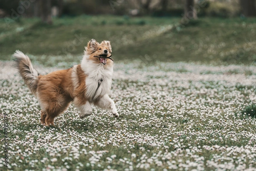
<svg viewBox="0 0 256 171">
<path fill-rule="evenodd" d="M 256 0 L 0 0 L 0 60 L 77 63 L 92 38 L 116 61 L 255 64 Z"/>
</svg>

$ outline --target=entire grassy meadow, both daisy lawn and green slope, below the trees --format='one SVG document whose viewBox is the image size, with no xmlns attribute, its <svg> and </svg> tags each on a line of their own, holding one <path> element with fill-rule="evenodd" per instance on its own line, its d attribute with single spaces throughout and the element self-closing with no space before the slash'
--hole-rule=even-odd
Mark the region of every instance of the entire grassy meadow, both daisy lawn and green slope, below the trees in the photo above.
<svg viewBox="0 0 256 171">
<path fill-rule="evenodd" d="M 179 28 L 179 18 L 99 16 L 77 24 L 86 17 L 0 25 L 0 170 L 256 170 L 255 19 L 203 18 Z M 79 63 L 92 37 L 111 38 L 119 118 L 93 108 L 79 119 L 70 105 L 55 127 L 41 125 L 11 54 L 29 52 L 47 74 Z"/>
</svg>

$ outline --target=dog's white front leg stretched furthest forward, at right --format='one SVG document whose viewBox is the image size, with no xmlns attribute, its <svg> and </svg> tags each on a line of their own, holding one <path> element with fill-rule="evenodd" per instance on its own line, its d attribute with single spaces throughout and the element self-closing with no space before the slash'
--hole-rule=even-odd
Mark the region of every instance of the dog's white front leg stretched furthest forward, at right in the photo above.
<svg viewBox="0 0 256 171">
<path fill-rule="evenodd" d="M 119 116 L 116 110 L 115 102 L 112 99 L 110 99 L 110 97 L 107 94 L 105 94 L 101 99 L 99 99 L 96 105 L 103 109 L 111 110 L 113 115 L 116 117 Z"/>
</svg>

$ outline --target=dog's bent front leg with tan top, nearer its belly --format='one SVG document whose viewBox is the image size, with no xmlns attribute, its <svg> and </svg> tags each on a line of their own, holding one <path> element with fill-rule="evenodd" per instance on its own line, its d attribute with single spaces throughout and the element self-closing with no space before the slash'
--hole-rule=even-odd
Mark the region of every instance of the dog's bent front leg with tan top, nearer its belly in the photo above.
<svg viewBox="0 0 256 171">
<path fill-rule="evenodd" d="M 89 101 L 82 101 L 78 98 L 74 99 L 75 106 L 80 111 L 80 118 L 83 119 L 85 116 L 90 116 L 93 113 L 93 108 L 90 105 Z"/>
</svg>

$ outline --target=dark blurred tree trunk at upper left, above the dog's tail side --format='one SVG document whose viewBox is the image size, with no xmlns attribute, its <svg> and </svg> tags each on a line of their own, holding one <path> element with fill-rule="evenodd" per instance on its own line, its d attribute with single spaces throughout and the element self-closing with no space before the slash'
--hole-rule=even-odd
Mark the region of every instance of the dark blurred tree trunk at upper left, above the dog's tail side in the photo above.
<svg viewBox="0 0 256 171">
<path fill-rule="evenodd" d="M 40 17 L 44 23 L 52 24 L 51 0 L 38 0 L 40 8 Z"/>
</svg>

